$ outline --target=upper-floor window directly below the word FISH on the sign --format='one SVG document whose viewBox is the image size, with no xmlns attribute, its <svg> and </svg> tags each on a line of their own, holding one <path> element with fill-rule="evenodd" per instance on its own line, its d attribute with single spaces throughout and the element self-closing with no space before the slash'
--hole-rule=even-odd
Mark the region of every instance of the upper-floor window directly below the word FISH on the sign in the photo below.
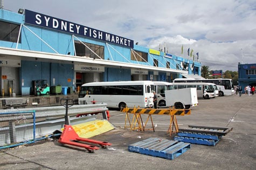
<svg viewBox="0 0 256 170">
<path fill-rule="evenodd" d="M 75 41 L 75 52 L 77 53 L 77 56 L 86 56 L 86 57 L 98 58 L 98 59 L 100 59 L 98 57 L 100 56 L 102 59 L 104 59 L 104 46 L 94 45 L 93 43 L 87 43 L 87 42 L 83 42 L 83 43 L 91 50 L 89 50 L 80 41 Z M 94 53 L 97 54 L 98 56 L 96 56 L 92 51 L 94 51 Z"/>
</svg>

